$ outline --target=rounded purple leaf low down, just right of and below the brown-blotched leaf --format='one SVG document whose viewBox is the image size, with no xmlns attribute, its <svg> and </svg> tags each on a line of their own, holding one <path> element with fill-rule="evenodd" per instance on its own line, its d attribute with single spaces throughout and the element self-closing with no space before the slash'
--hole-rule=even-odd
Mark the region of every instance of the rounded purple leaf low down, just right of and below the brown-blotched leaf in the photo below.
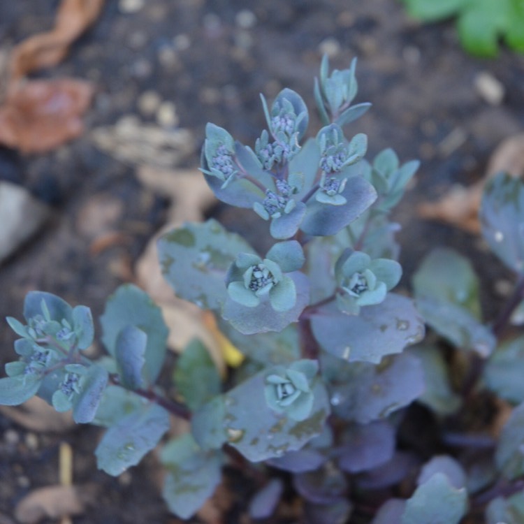
<svg viewBox="0 0 524 524">
<path fill-rule="evenodd" d="M 342 471 L 358 473 L 388 462 L 395 451 L 395 430 L 386 421 L 352 424 L 342 435 L 344 444 L 336 449 Z"/>
</svg>

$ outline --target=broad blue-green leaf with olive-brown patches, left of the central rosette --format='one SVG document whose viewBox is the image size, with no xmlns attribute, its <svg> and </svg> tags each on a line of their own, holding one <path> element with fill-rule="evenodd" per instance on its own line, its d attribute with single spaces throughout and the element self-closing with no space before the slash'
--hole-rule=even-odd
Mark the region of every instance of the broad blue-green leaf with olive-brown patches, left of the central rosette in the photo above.
<svg viewBox="0 0 524 524">
<path fill-rule="evenodd" d="M 212 310 L 226 300 L 224 279 L 235 256 L 254 254 L 240 235 L 214 219 L 173 229 L 161 236 L 158 248 L 162 274 L 177 296 Z"/>
</svg>

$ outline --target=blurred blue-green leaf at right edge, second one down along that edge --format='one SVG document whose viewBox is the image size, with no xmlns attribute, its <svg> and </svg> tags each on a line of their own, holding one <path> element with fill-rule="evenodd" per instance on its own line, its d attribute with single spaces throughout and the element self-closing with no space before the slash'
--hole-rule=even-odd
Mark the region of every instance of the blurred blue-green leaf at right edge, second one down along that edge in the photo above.
<svg viewBox="0 0 524 524">
<path fill-rule="evenodd" d="M 483 372 L 486 386 L 513 404 L 524 402 L 524 336 L 504 342 Z"/>
</svg>

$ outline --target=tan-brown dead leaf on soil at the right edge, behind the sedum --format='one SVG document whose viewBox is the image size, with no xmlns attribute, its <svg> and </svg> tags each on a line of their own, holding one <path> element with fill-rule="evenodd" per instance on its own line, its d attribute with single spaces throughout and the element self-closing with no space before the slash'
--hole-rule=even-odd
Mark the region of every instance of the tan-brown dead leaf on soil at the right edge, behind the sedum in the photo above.
<svg viewBox="0 0 524 524">
<path fill-rule="evenodd" d="M 437 202 L 419 205 L 419 217 L 446 222 L 458 228 L 479 233 L 479 208 L 484 184 L 496 173 L 505 171 L 514 177 L 524 177 L 524 133 L 510 136 L 491 155 L 482 180 L 470 187 L 454 186 Z"/>
</svg>

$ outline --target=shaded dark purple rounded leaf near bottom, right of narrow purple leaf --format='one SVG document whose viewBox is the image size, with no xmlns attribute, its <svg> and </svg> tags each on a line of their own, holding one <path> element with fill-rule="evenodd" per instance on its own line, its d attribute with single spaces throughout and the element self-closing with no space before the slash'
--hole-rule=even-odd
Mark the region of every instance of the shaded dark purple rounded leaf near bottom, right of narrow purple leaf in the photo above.
<svg viewBox="0 0 524 524">
<path fill-rule="evenodd" d="M 348 489 L 344 474 L 330 463 L 313 472 L 294 474 L 293 486 L 305 500 L 316 504 L 333 504 Z"/>
</svg>

